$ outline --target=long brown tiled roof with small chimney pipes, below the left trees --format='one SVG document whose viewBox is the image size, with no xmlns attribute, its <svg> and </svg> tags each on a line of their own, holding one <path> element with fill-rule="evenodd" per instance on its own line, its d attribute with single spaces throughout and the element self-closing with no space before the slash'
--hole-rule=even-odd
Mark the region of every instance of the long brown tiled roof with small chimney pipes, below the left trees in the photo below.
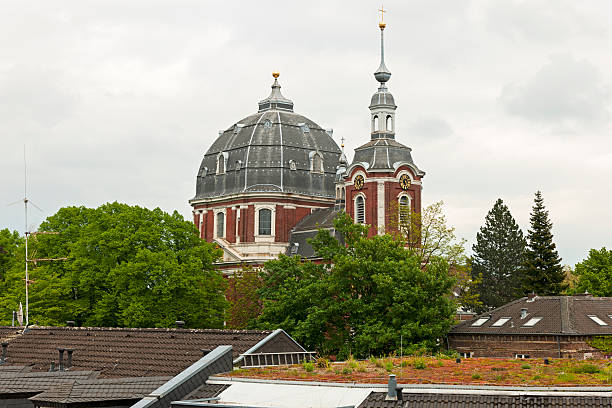
<svg viewBox="0 0 612 408">
<path fill-rule="evenodd" d="M 48 371 L 58 366 L 58 347 L 75 349 L 73 370 L 100 371 L 100 377 L 174 376 L 202 357 L 201 349 L 232 345 L 234 358 L 272 331 L 212 329 L 128 329 L 30 327 L 14 337 L 7 364 Z M 64 362 L 66 361 L 64 355 Z"/>
</svg>

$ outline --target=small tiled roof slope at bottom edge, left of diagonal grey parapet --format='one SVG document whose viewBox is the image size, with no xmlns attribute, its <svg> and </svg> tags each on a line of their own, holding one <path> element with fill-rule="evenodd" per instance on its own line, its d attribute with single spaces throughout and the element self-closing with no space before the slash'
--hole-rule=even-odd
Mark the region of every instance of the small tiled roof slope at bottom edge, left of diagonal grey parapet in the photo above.
<svg viewBox="0 0 612 408">
<path fill-rule="evenodd" d="M 75 380 L 54 386 L 30 398 L 31 401 L 68 405 L 100 401 L 136 402 L 171 377 L 106 378 Z M 47 405 L 47 404 L 45 404 Z"/>
</svg>

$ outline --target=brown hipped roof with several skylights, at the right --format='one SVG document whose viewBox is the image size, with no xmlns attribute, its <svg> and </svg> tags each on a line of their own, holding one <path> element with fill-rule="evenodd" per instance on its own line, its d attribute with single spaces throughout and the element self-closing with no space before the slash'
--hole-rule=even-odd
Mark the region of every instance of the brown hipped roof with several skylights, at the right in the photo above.
<svg viewBox="0 0 612 408">
<path fill-rule="evenodd" d="M 521 317 L 521 309 L 527 316 Z M 588 315 L 599 317 L 602 326 Z M 479 318 L 490 318 L 482 326 L 473 326 Z M 588 296 L 536 296 L 524 297 L 490 312 L 476 316 L 454 326 L 452 334 L 559 334 L 559 335 L 612 335 L 612 298 Z M 502 317 L 510 320 L 502 326 L 493 324 Z M 541 317 L 533 327 L 524 324 L 531 318 Z"/>
</svg>

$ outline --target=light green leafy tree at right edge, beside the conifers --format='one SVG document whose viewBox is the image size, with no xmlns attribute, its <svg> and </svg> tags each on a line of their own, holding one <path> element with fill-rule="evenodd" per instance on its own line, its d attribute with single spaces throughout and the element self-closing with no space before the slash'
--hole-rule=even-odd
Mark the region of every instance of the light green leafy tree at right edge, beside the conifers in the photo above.
<svg viewBox="0 0 612 408">
<path fill-rule="evenodd" d="M 588 258 L 576 264 L 574 273 L 578 277 L 576 292 L 612 296 L 612 250 L 591 249 Z"/>
</svg>

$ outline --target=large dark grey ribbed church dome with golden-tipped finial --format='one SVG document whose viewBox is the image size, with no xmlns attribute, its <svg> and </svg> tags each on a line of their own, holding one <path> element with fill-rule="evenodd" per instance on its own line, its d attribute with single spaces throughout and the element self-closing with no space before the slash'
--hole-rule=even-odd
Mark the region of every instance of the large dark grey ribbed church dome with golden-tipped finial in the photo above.
<svg viewBox="0 0 612 408">
<path fill-rule="evenodd" d="M 204 155 L 191 201 L 266 192 L 335 197 L 340 148 L 331 132 L 293 112 L 274 77 L 259 111 L 219 132 Z"/>
</svg>

